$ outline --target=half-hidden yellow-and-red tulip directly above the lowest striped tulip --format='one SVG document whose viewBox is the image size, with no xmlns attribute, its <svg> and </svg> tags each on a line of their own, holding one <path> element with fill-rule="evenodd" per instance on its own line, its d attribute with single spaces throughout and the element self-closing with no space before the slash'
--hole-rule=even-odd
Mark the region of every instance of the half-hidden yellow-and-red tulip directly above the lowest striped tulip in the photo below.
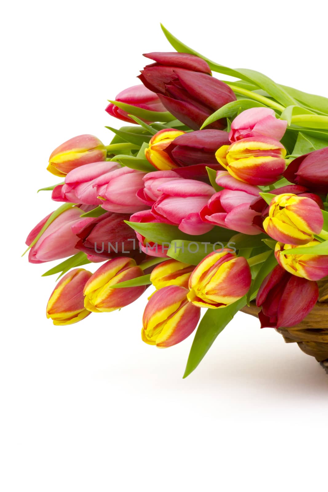
<svg viewBox="0 0 328 492">
<path fill-rule="evenodd" d="M 188 265 L 178 260 L 167 260 L 157 265 L 150 274 L 150 280 L 156 289 L 167 285 L 180 285 L 188 288 L 188 280 L 194 265 Z"/>
</svg>

